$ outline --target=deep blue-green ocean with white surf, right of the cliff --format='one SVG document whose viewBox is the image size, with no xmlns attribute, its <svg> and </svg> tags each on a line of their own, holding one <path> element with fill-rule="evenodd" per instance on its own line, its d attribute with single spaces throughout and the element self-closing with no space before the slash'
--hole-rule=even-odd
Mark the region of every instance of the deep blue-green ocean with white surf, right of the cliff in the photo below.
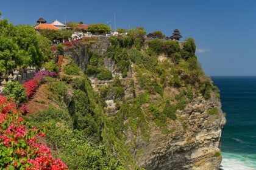
<svg viewBox="0 0 256 170">
<path fill-rule="evenodd" d="M 222 129 L 221 168 L 256 170 L 256 77 L 212 77 L 221 91 L 227 124 Z"/>
</svg>

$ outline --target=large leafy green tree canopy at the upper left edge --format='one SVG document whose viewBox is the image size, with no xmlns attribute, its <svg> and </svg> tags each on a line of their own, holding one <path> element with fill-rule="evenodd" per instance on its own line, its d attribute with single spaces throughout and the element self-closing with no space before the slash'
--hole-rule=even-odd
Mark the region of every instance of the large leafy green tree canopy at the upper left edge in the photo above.
<svg viewBox="0 0 256 170">
<path fill-rule="evenodd" d="M 0 72 L 15 67 L 41 66 L 51 57 L 50 43 L 31 26 L 14 26 L 6 19 L 0 21 Z"/>
</svg>

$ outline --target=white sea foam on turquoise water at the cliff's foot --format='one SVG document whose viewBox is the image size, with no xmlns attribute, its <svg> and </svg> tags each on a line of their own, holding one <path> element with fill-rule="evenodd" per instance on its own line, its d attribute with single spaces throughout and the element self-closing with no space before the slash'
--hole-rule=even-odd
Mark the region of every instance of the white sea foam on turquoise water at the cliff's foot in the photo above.
<svg viewBox="0 0 256 170">
<path fill-rule="evenodd" d="M 224 152 L 221 152 L 221 155 L 221 168 L 224 170 L 256 170 L 256 161 L 246 155 Z"/>
</svg>

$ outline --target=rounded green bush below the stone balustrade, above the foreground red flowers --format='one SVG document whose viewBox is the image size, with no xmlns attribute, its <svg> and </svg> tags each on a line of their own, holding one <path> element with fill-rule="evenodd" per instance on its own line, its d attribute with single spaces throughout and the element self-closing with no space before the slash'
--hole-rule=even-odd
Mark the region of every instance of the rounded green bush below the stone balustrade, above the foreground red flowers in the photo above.
<svg viewBox="0 0 256 170">
<path fill-rule="evenodd" d="M 7 95 L 8 99 L 12 98 L 15 100 L 16 103 L 27 101 L 26 90 L 18 81 L 7 83 L 4 87 L 4 94 Z"/>
</svg>

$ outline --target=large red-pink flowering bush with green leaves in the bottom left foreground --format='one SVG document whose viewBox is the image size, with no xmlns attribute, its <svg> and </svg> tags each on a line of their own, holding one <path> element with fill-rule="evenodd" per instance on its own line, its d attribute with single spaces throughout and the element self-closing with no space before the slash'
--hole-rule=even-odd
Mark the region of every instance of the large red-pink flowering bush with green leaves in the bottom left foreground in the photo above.
<svg viewBox="0 0 256 170">
<path fill-rule="evenodd" d="M 22 109 L 0 96 L 0 167 L 6 169 L 52 169 L 68 167 L 52 157 L 50 149 L 37 142 L 44 133 L 36 127 L 26 129 Z"/>
</svg>

